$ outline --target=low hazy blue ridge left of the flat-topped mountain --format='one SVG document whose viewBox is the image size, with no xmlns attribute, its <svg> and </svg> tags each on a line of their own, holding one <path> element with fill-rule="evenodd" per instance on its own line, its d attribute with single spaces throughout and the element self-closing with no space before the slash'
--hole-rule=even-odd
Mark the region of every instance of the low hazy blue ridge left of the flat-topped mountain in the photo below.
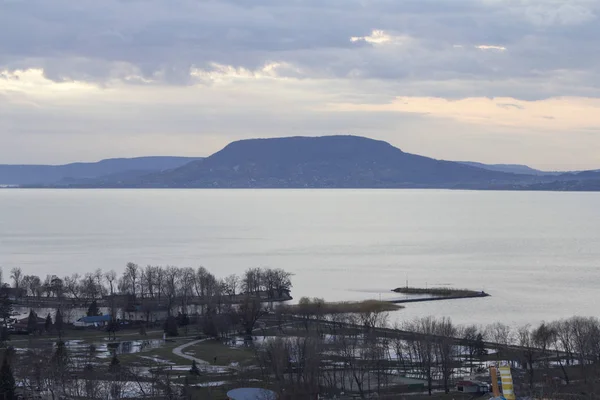
<svg viewBox="0 0 600 400">
<path fill-rule="evenodd" d="M 65 165 L 0 165 L 0 185 L 52 185 L 60 182 L 76 183 L 103 176 L 127 174 L 137 176 L 173 169 L 198 160 L 196 157 L 137 157 L 111 158 L 91 163 Z"/>
</svg>

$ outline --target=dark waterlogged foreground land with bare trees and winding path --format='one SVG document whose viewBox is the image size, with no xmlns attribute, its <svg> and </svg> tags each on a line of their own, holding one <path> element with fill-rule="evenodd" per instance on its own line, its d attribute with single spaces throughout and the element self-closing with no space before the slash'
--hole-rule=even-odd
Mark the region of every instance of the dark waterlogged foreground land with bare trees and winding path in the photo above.
<svg viewBox="0 0 600 400">
<path fill-rule="evenodd" d="M 302 298 L 296 305 L 278 304 L 273 301 L 277 293 L 291 288 L 290 275 L 281 270 L 250 269 L 223 280 L 203 268 L 139 271 L 128 264 L 120 279 L 124 293 L 119 296 L 126 307 L 134 307 L 122 319 L 76 328 L 63 320 L 61 308 L 45 319 L 31 310 L 28 318 L 14 324 L 23 335 L 8 337 L 10 331 L 3 329 L 4 360 L 14 390 L 29 398 L 223 399 L 229 389 L 261 386 L 282 400 L 317 395 L 463 398 L 456 382 L 489 383 L 487 366 L 492 362 L 513 367 L 519 396 L 539 397 L 543 392 L 578 398 L 583 392 L 587 397 L 582 398 L 590 398 L 600 383 L 600 322 L 593 318 L 518 329 L 500 323 L 457 326 L 447 318 L 431 317 L 390 326 L 388 313 L 402 307 L 386 301 Z M 165 280 L 140 283 L 155 273 Z M 65 280 L 97 285 L 99 275 Z M 30 279 L 15 282 L 22 287 Z M 63 308 L 89 298 L 67 297 L 57 289 L 56 279 L 50 282 L 48 297 L 62 301 Z M 94 290 L 91 315 L 99 312 L 103 296 L 101 287 Z M 190 308 L 193 291 L 203 299 L 200 307 Z M 10 316 L 12 306 L 7 293 L 3 290 L 0 299 L 4 316 Z M 116 296 L 108 295 L 111 305 Z M 159 301 L 166 304 L 164 317 L 146 319 L 144 305 Z M 188 313 L 191 309 L 195 311 Z M 7 387 L 3 376 L 8 374 L 0 373 L 0 391 Z"/>
</svg>

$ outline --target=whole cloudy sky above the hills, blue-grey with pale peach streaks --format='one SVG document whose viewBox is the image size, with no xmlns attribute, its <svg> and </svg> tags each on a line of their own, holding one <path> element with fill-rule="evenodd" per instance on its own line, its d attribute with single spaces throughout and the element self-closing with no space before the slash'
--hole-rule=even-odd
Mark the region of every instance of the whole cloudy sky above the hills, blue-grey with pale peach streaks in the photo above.
<svg viewBox="0 0 600 400">
<path fill-rule="evenodd" d="M 600 0 L 0 0 L 0 163 L 355 134 L 600 168 Z"/>
</svg>

